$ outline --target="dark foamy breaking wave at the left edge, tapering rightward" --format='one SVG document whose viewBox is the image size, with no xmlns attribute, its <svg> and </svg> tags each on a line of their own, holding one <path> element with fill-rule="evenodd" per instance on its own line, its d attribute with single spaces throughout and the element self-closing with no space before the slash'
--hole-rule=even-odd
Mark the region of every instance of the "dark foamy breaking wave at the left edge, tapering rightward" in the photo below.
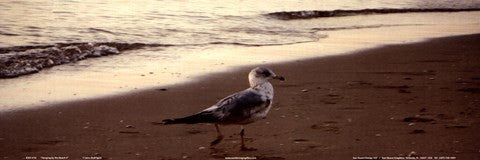
<svg viewBox="0 0 480 160">
<path fill-rule="evenodd" d="M 92 57 L 120 54 L 123 51 L 146 47 L 236 45 L 246 47 L 286 45 L 210 42 L 205 44 L 145 44 L 145 43 L 58 43 L 54 45 L 15 46 L 0 48 L 0 78 L 15 78 L 37 73 L 44 68 L 72 63 Z"/>
</svg>

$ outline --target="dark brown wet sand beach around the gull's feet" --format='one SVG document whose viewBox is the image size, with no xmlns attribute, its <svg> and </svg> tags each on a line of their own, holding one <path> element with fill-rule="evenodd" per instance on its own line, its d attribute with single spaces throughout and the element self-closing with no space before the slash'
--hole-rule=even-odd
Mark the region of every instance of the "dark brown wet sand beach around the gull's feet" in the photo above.
<svg viewBox="0 0 480 160">
<path fill-rule="evenodd" d="M 246 67 L 167 90 L 3 113 L 0 158 L 480 157 L 480 35 L 268 66 L 287 81 L 273 82 L 268 118 L 246 126 L 257 151 L 239 150 L 239 126 L 221 127 L 226 138 L 211 149 L 213 125 L 152 123 L 246 88 Z"/>
</svg>

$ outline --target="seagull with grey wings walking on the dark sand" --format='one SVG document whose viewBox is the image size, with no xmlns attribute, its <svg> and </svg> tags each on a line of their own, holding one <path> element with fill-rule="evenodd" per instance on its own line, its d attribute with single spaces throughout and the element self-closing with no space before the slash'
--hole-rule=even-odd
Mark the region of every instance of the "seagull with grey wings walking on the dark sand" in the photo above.
<svg viewBox="0 0 480 160">
<path fill-rule="evenodd" d="M 256 67 L 248 74 L 250 88 L 229 95 L 215 105 L 198 112 L 194 115 L 163 120 L 164 125 L 170 124 L 196 124 L 211 123 L 215 125 L 217 139 L 210 143 L 215 146 L 223 140 L 219 125 L 241 125 L 241 150 L 251 151 L 253 148 L 245 147 L 243 140 L 244 125 L 265 119 L 272 107 L 273 86 L 268 80 L 277 79 L 284 81 L 285 78 L 276 75 L 266 67 Z"/>
</svg>

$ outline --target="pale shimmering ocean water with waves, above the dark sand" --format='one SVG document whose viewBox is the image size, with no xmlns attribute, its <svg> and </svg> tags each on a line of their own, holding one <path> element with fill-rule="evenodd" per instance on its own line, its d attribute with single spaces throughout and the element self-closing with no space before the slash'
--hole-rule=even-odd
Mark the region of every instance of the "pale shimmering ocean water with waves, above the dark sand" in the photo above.
<svg viewBox="0 0 480 160">
<path fill-rule="evenodd" d="M 480 32 L 480 0 L 3 0 L 0 15 L 0 110 Z"/>
</svg>

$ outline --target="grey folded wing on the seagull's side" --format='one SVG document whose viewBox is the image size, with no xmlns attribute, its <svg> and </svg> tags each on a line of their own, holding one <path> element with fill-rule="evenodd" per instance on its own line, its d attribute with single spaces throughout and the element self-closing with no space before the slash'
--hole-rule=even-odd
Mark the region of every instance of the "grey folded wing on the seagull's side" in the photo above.
<svg viewBox="0 0 480 160">
<path fill-rule="evenodd" d="M 250 118 L 252 114 L 264 110 L 270 103 L 271 100 L 266 96 L 254 89 L 247 89 L 223 98 L 205 111 L 208 110 L 219 117 L 220 122 L 235 123 Z"/>
</svg>

